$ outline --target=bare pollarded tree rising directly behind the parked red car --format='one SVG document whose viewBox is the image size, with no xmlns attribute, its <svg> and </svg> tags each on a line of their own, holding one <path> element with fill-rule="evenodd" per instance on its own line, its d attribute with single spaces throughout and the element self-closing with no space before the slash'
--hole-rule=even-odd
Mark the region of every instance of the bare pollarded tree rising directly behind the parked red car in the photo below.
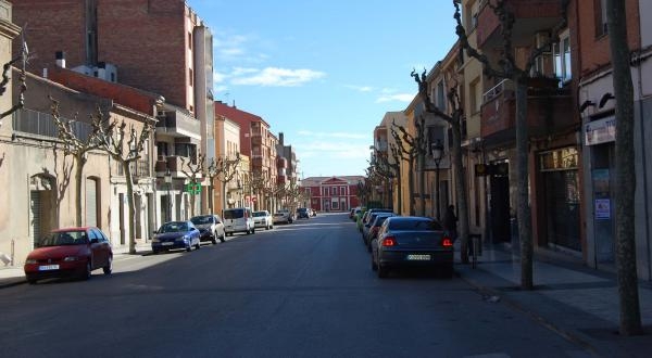
<svg viewBox="0 0 652 358">
<path fill-rule="evenodd" d="M 50 111 L 52 114 L 52 118 L 54 118 L 54 124 L 57 124 L 59 140 L 63 143 L 63 153 L 64 155 L 72 155 L 75 162 L 75 200 L 77 201 L 75 205 L 75 225 L 83 225 L 83 215 L 82 208 L 82 186 L 84 183 L 84 166 L 88 162 L 88 153 L 95 150 L 100 149 L 99 141 L 99 132 L 98 128 L 100 128 L 100 116 L 90 116 L 90 119 L 93 120 L 92 130 L 86 140 L 77 137 L 75 129 L 73 128 L 73 124 L 77 122 L 77 118 L 73 118 L 72 120 L 66 120 L 61 117 L 59 112 L 59 101 L 54 100 L 50 97 L 50 101 L 52 104 L 50 105 Z M 88 209 L 88 208 L 87 208 Z"/>
</svg>

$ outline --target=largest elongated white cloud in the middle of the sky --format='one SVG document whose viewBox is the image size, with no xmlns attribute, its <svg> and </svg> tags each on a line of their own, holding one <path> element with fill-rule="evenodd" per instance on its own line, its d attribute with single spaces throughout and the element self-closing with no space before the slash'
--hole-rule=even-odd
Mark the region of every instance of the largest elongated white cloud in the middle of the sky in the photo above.
<svg viewBox="0 0 652 358">
<path fill-rule="evenodd" d="M 235 77 L 231 79 L 231 84 L 242 86 L 296 87 L 324 76 L 326 74 L 323 72 L 305 68 L 266 67 L 258 73 L 251 72 L 251 76 Z"/>
</svg>

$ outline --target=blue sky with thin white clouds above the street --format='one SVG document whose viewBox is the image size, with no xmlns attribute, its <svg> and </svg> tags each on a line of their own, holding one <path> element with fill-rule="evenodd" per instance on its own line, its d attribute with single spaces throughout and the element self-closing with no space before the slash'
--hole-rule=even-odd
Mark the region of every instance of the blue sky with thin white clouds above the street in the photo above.
<svg viewBox="0 0 652 358">
<path fill-rule="evenodd" d="M 187 0 L 213 33 L 215 98 L 294 146 L 300 176 L 364 175 L 373 130 L 456 40 L 452 0 Z"/>
</svg>

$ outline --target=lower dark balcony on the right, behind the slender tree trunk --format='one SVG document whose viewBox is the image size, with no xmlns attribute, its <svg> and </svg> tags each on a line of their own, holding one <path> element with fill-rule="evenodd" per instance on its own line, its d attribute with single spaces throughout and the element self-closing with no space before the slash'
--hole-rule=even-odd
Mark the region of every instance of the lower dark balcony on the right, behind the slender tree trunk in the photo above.
<svg viewBox="0 0 652 358">
<path fill-rule="evenodd" d="M 560 89 L 550 80 L 548 86 L 532 82 L 527 92 L 528 133 L 549 135 L 573 120 L 573 99 L 568 89 Z M 546 84 L 544 84 L 546 85 Z M 480 135 L 490 142 L 515 138 L 516 98 L 511 80 L 503 80 L 487 91 L 481 107 Z"/>
</svg>

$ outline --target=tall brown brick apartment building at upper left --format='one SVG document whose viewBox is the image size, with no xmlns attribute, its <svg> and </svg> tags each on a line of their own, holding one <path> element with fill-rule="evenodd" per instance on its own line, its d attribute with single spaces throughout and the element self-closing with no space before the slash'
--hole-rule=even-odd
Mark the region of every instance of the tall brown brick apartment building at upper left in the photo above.
<svg viewBox="0 0 652 358">
<path fill-rule="evenodd" d="M 47 76 L 57 56 L 63 67 L 165 98 L 156 113 L 155 171 L 161 182 L 170 170 L 181 183 L 173 189 L 184 203 L 174 219 L 187 218 L 191 201 L 181 189 L 191 178 L 183 163 L 215 155 L 212 35 L 202 20 L 183 0 L 21 0 L 14 22 L 29 24 L 25 37 L 37 54 L 30 72 Z M 195 213 L 208 209 L 206 195 L 193 201 Z"/>
</svg>

